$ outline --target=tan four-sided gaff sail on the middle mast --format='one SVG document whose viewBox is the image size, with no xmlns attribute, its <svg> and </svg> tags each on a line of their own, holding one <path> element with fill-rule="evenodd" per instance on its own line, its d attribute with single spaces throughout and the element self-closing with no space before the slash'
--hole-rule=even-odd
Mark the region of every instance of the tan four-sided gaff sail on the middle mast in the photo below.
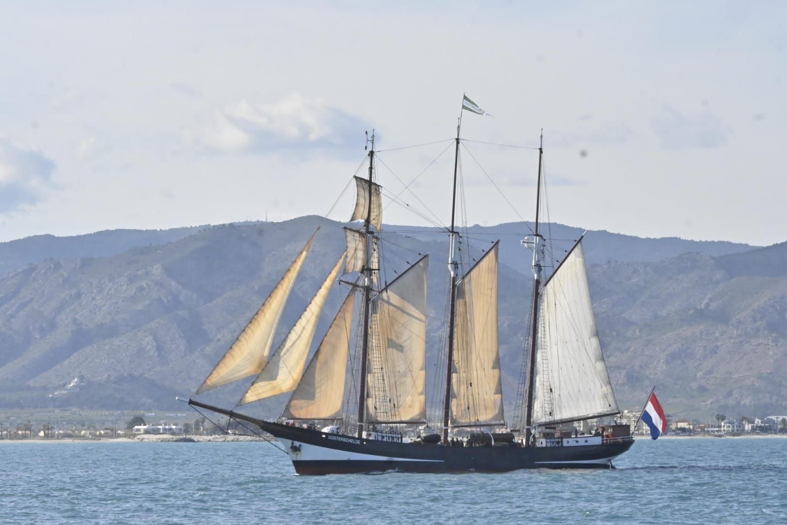
<svg viewBox="0 0 787 525">
<path fill-rule="evenodd" d="M 497 243 L 456 283 L 451 423 L 503 421 L 497 345 Z"/>
</svg>

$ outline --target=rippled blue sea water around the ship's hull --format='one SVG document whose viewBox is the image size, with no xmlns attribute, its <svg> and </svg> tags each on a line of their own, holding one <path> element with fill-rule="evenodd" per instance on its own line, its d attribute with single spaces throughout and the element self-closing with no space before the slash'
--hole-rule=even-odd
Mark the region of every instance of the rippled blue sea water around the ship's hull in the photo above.
<svg viewBox="0 0 787 525">
<path fill-rule="evenodd" d="M 787 439 L 639 439 L 615 467 L 312 477 L 265 442 L 0 442 L 0 523 L 787 523 Z"/>
</svg>

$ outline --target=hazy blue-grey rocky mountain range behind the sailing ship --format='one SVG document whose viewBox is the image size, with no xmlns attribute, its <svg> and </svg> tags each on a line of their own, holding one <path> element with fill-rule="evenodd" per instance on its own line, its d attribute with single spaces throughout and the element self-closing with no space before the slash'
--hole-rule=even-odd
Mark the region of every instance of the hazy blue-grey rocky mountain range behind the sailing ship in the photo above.
<svg viewBox="0 0 787 525">
<path fill-rule="evenodd" d="M 318 223 L 301 217 L 144 235 L 122 231 L 122 241 L 110 231 L 102 232 L 100 250 L 84 242 L 87 236 L 70 238 L 80 246 L 54 238 L 57 247 L 36 238 L 44 246 L 27 252 L 15 249 L 29 246 L 27 239 L 0 245 L 0 255 L 13 254 L 0 275 L 0 405 L 171 405 L 204 379 Z M 445 236 L 427 228 L 387 231 L 384 256 L 393 264 L 383 279 L 393 279 L 419 253 L 433 256 L 430 349 L 442 348 Z M 530 294 L 523 233 L 521 223 L 472 227 L 463 242 L 471 264 L 479 247 L 501 238 L 501 360 L 511 405 Z M 580 234 L 552 225 L 552 236 L 562 239 L 557 252 Z M 323 223 L 282 330 L 327 275 L 342 238 L 337 224 Z M 597 263 L 590 268 L 591 292 L 622 405 L 639 404 L 653 384 L 676 414 L 760 413 L 787 404 L 787 378 L 781 378 L 787 369 L 787 246 L 752 249 L 595 231 L 585 245 Z M 329 313 L 347 290 L 332 292 Z M 430 371 L 438 369 L 437 360 L 438 352 L 431 352 Z M 65 389 L 76 377 L 77 386 Z M 228 390 L 225 401 L 235 401 L 239 392 Z"/>
</svg>

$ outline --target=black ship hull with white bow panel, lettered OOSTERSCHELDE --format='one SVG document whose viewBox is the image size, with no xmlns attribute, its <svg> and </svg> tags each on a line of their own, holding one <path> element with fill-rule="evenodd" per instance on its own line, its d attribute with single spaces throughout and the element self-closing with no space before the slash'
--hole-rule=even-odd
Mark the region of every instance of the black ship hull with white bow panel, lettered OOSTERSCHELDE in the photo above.
<svg viewBox="0 0 787 525">
<path fill-rule="evenodd" d="M 364 472 L 506 472 L 523 468 L 611 468 L 611 461 L 634 444 L 631 438 L 574 446 L 442 446 L 384 442 L 319 430 L 293 427 L 217 409 L 191 401 L 238 420 L 246 420 L 279 440 L 301 475 Z M 582 439 L 579 440 L 580 442 Z"/>
</svg>

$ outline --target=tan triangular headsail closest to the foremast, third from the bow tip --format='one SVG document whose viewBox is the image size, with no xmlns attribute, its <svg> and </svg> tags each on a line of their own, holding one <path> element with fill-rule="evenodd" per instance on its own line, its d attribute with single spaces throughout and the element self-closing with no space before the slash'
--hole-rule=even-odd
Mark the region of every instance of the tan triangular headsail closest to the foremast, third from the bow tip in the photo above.
<svg viewBox="0 0 787 525">
<path fill-rule="evenodd" d="M 282 416 L 294 420 L 328 420 L 342 416 L 355 294 L 355 290 L 350 290 Z"/>
</svg>

